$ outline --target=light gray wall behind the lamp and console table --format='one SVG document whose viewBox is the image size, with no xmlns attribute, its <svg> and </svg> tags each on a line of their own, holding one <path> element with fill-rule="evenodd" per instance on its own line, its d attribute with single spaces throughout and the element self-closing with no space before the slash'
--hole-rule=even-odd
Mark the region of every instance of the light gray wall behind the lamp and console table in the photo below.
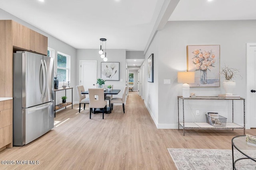
<svg viewBox="0 0 256 170">
<path fill-rule="evenodd" d="M 182 95 L 182 84 L 177 83 L 177 72 L 186 70 L 187 45 L 220 45 L 220 67 L 226 64 L 240 70 L 243 78 L 236 78 L 234 94 L 246 98 L 246 43 L 256 42 L 255 30 L 256 20 L 168 21 L 164 29 L 158 31 L 145 55 L 147 59 L 154 53 L 156 81 L 150 83 L 145 78 L 145 103 L 157 127 L 178 127 L 177 96 Z M 164 85 L 164 79 L 170 79 L 171 84 Z M 222 82 L 223 79 L 220 87 L 191 87 L 190 92 L 196 96 L 217 96 L 224 93 Z M 152 90 L 154 88 L 157 90 Z M 156 98 L 159 102 L 150 102 Z M 235 101 L 234 106 L 234 121 L 242 124 L 243 102 Z M 231 101 L 185 100 L 184 107 L 185 121 L 205 121 L 206 111 L 216 111 L 231 121 Z M 200 116 L 196 116 L 196 110 L 200 110 Z"/>
</svg>

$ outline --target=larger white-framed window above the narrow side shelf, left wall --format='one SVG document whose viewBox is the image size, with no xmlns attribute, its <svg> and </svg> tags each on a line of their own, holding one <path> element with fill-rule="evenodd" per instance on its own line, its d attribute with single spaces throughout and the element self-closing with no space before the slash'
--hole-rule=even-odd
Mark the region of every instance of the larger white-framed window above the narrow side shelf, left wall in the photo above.
<svg viewBox="0 0 256 170">
<path fill-rule="evenodd" d="M 70 56 L 64 53 L 57 53 L 57 74 L 60 75 L 59 81 L 70 81 Z"/>
</svg>

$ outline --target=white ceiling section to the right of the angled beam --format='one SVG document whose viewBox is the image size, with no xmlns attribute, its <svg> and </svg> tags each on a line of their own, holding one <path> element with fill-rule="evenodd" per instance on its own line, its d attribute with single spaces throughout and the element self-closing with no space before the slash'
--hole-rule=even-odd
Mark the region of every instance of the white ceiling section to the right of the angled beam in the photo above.
<svg viewBox="0 0 256 170">
<path fill-rule="evenodd" d="M 180 0 L 169 21 L 256 20 L 256 0 Z"/>
</svg>

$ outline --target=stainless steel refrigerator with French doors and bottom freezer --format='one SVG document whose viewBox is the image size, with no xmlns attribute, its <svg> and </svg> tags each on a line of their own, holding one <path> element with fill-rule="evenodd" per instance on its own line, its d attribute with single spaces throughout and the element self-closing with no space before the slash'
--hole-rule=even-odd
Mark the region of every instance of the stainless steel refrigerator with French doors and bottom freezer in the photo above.
<svg viewBox="0 0 256 170">
<path fill-rule="evenodd" d="M 34 141 L 54 127 L 54 59 L 13 54 L 13 145 Z"/>
</svg>

